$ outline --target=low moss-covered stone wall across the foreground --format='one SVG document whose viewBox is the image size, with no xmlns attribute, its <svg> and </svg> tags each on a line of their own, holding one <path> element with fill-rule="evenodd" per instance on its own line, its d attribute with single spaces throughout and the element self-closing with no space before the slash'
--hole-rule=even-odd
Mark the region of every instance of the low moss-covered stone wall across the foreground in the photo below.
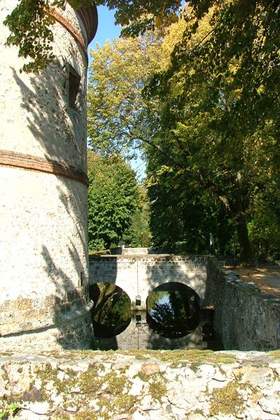
<svg viewBox="0 0 280 420">
<path fill-rule="evenodd" d="M 276 420 L 280 353 L 0 356 L 0 414 L 41 420 Z M 10 417 L 12 418 L 12 417 Z"/>
</svg>

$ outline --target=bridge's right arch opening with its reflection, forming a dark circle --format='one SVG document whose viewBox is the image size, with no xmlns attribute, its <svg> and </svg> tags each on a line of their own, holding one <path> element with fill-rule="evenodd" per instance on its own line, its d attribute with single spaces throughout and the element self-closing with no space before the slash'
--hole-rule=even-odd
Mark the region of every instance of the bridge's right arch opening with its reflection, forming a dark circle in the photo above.
<svg viewBox="0 0 280 420">
<path fill-rule="evenodd" d="M 163 337 L 184 337 L 200 323 L 200 297 L 182 283 L 158 286 L 146 305 L 148 325 Z"/>
</svg>

